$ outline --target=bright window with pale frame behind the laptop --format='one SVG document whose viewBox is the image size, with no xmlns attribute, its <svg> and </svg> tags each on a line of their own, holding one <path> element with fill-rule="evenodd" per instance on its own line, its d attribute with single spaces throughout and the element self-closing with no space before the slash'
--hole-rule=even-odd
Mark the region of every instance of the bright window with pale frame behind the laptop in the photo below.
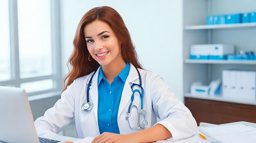
<svg viewBox="0 0 256 143">
<path fill-rule="evenodd" d="M 60 91 L 59 1 L 1 0 L 0 13 L 0 85 Z"/>
</svg>

